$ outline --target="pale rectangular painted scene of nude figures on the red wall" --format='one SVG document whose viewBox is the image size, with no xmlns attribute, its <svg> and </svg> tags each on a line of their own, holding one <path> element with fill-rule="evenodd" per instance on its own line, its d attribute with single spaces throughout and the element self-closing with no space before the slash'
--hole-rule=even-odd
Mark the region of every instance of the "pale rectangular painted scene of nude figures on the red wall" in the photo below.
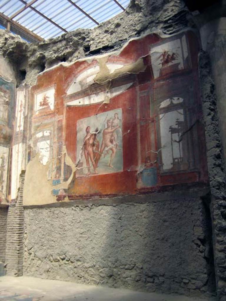
<svg viewBox="0 0 226 301">
<path fill-rule="evenodd" d="M 78 120 L 76 168 L 77 177 L 122 171 L 121 109 Z"/>
</svg>

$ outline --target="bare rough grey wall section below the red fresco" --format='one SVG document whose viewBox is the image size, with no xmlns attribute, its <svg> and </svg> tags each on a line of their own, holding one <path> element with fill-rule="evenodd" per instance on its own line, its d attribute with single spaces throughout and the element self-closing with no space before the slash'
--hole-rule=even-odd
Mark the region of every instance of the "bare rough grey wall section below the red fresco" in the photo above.
<svg viewBox="0 0 226 301">
<path fill-rule="evenodd" d="M 200 198 L 66 206 L 25 208 L 24 275 L 152 292 L 215 291 L 211 226 Z"/>
</svg>

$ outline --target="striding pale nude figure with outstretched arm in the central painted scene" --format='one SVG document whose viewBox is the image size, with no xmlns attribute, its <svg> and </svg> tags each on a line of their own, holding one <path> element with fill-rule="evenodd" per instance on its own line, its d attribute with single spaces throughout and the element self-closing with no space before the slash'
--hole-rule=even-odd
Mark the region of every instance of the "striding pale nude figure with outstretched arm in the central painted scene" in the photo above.
<svg viewBox="0 0 226 301">
<path fill-rule="evenodd" d="M 114 128 L 112 128 L 112 119 L 108 119 L 107 120 L 107 127 L 106 129 L 103 130 L 103 139 L 102 139 L 102 143 L 101 143 L 101 147 L 100 147 L 100 156 L 103 154 L 103 151 L 106 147 L 106 150 L 111 150 L 111 157 L 110 157 L 110 161 L 108 163 L 109 167 L 112 167 L 112 160 L 115 157 L 115 153 L 116 153 L 116 147 L 115 144 L 113 144 L 112 141 L 112 133 L 115 132 L 116 129 L 119 129 L 119 126 L 115 126 Z"/>
</svg>

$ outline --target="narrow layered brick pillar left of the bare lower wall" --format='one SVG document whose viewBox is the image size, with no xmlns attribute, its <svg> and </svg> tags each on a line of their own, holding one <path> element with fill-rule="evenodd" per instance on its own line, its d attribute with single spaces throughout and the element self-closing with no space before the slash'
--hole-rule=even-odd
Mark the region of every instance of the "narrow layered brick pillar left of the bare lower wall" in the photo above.
<svg viewBox="0 0 226 301">
<path fill-rule="evenodd" d="M 9 207 L 6 234 L 6 273 L 12 276 L 23 275 L 23 242 L 24 242 L 24 207 L 23 207 L 24 174 L 20 175 L 20 191 L 17 203 Z"/>
</svg>

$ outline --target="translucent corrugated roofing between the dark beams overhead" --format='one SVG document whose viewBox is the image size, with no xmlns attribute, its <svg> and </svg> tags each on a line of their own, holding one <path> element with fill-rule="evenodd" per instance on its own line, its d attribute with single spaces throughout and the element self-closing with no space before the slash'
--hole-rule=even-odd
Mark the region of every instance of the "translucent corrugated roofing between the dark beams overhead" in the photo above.
<svg viewBox="0 0 226 301">
<path fill-rule="evenodd" d="M 27 3 L 30 1 L 26 0 Z M 99 23 L 123 11 L 114 0 L 72 1 Z M 130 0 L 118 0 L 118 2 L 122 7 L 126 8 Z M 25 5 L 20 0 L 0 0 L 0 11 L 8 17 L 24 7 Z M 91 18 L 86 16 L 86 14 L 72 5 L 68 0 L 38 0 L 32 7 L 67 31 L 96 26 L 96 23 Z M 46 20 L 45 17 L 40 16 L 31 8 L 22 11 L 14 20 L 45 39 L 64 33 L 57 25 L 51 23 L 50 20 Z"/>
</svg>

